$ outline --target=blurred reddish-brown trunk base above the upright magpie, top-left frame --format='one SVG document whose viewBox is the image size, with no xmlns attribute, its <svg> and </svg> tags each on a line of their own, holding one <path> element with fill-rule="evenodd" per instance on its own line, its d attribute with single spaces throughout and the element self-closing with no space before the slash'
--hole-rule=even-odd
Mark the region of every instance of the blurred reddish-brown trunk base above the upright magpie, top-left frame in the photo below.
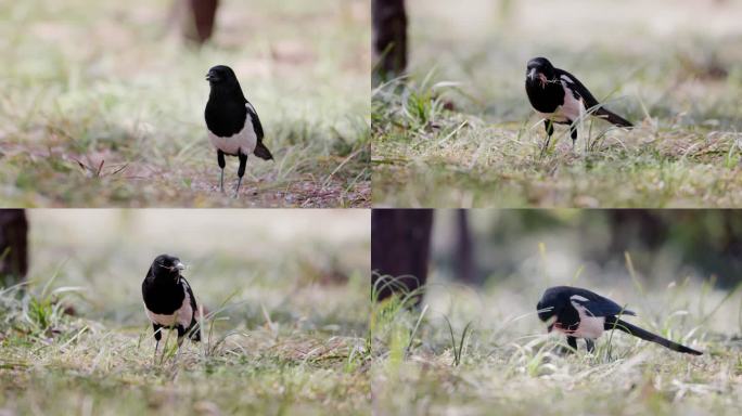
<svg viewBox="0 0 742 416">
<path fill-rule="evenodd" d="M 171 14 L 180 25 L 182 36 L 202 44 L 214 32 L 219 0 L 175 0 Z"/>
</svg>

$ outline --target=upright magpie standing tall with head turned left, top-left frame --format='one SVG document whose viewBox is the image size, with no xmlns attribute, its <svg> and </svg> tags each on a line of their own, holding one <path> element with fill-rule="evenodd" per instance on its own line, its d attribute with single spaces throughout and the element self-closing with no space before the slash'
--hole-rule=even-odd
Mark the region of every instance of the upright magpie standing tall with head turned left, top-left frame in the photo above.
<svg viewBox="0 0 742 416">
<path fill-rule="evenodd" d="M 240 159 L 238 184 L 234 197 L 240 193 L 242 177 L 245 174 L 247 156 L 273 159 L 268 147 L 263 144 L 263 125 L 253 104 L 245 99 L 234 72 L 229 66 L 217 65 L 206 74 L 212 92 L 208 95 L 206 110 L 206 128 L 208 140 L 217 150 L 217 160 L 221 168 L 219 188 L 225 191 L 225 155 Z"/>
</svg>

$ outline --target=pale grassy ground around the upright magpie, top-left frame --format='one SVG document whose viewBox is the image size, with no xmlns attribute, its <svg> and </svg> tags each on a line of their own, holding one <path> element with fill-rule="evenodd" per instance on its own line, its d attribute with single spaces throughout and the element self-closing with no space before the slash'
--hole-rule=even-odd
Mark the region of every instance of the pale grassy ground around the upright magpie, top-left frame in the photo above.
<svg viewBox="0 0 742 416">
<path fill-rule="evenodd" d="M 168 29 L 171 3 L 0 5 L 0 206 L 368 206 L 366 2 L 225 1 L 201 50 Z M 248 159 L 239 200 L 203 120 L 216 64 L 276 156 Z"/>
</svg>

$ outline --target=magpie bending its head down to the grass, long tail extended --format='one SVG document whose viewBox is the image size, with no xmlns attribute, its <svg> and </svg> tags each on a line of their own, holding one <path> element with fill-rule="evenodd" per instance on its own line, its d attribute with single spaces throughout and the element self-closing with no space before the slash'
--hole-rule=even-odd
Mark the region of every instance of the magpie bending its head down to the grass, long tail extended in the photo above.
<svg viewBox="0 0 742 416">
<path fill-rule="evenodd" d="M 594 350 L 593 340 L 603 332 L 619 329 L 645 341 L 656 342 L 673 351 L 701 355 L 702 352 L 673 342 L 626 321 L 621 315 L 636 315 L 635 312 L 619 307 L 611 299 L 603 298 L 587 289 L 570 286 L 548 288 L 536 306 L 538 317 L 547 323 L 547 332 L 558 330 L 566 335 L 567 344 L 577 349 L 577 338 L 584 338 L 587 350 Z"/>
</svg>

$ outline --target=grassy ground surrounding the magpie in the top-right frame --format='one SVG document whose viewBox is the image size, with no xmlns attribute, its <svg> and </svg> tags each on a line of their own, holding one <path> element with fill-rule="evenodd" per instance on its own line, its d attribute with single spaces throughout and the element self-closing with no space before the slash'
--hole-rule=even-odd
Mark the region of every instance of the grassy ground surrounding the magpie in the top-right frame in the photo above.
<svg viewBox="0 0 742 416">
<path fill-rule="evenodd" d="M 742 29 L 731 18 L 742 3 L 420 0 L 409 8 L 410 74 L 372 91 L 374 204 L 742 204 Z M 586 121 L 574 151 L 566 128 L 543 150 L 523 86 L 526 62 L 539 55 L 638 128 Z"/>
</svg>

